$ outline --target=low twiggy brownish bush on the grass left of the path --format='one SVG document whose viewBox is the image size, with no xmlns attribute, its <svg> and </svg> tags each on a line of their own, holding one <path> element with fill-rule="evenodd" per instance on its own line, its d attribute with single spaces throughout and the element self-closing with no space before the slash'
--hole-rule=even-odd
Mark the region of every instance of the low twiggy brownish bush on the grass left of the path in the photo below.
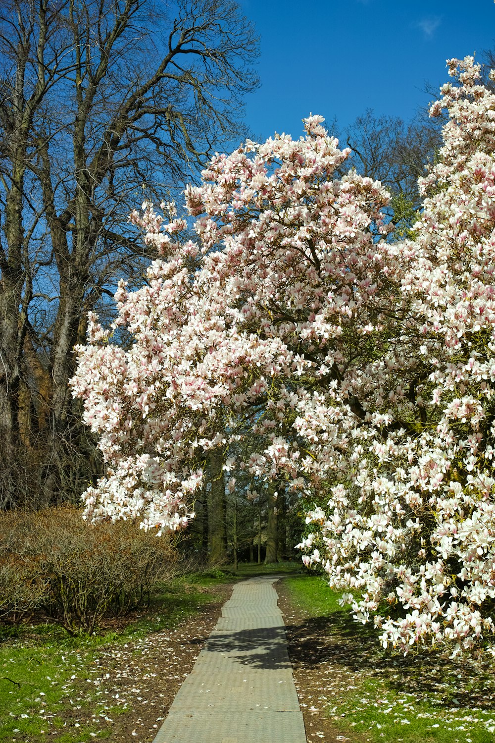
<svg viewBox="0 0 495 743">
<path fill-rule="evenodd" d="M 94 632 L 105 615 L 126 614 L 170 580 L 171 539 L 131 522 L 85 522 L 73 507 L 0 516 L 0 615 L 19 621 L 42 610 L 68 632 Z"/>
</svg>

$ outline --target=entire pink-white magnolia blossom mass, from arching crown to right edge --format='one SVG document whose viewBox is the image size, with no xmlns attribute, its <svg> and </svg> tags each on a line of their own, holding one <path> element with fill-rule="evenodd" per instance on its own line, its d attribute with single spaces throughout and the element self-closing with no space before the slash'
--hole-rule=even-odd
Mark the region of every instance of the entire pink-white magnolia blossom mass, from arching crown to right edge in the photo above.
<svg viewBox="0 0 495 743">
<path fill-rule="evenodd" d="M 132 215 L 162 257 L 142 289 L 119 286 L 114 328 L 91 318 L 72 386 L 107 463 L 88 517 L 178 528 L 209 452 L 246 452 L 230 487 L 242 471 L 325 496 L 304 562 L 384 646 L 455 654 L 495 630 L 495 97 L 473 59 L 450 74 L 414 239 L 390 239 L 381 184 L 335 178 L 350 152 L 321 117 L 300 140 L 248 141 L 182 216 Z"/>
</svg>

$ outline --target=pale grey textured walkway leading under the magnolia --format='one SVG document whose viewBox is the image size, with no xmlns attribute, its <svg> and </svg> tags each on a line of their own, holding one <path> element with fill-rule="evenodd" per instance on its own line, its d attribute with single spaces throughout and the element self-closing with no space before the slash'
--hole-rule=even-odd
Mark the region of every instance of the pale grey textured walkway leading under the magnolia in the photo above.
<svg viewBox="0 0 495 743">
<path fill-rule="evenodd" d="M 154 743 L 306 743 L 278 577 L 235 586 Z"/>
</svg>

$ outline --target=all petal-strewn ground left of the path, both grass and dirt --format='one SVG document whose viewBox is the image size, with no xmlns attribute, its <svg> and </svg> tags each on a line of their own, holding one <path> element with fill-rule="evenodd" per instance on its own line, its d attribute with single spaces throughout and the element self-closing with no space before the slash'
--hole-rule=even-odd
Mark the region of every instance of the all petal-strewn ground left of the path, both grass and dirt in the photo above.
<svg viewBox="0 0 495 743">
<path fill-rule="evenodd" d="M 153 740 L 229 597 L 232 577 L 177 581 L 92 637 L 47 624 L 0 635 L 0 742 Z"/>
</svg>

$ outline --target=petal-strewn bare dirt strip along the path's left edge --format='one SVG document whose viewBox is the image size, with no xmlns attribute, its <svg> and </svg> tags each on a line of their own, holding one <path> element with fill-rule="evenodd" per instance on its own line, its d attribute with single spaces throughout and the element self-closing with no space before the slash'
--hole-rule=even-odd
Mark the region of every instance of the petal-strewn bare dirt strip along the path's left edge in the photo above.
<svg viewBox="0 0 495 743">
<path fill-rule="evenodd" d="M 112 743 L 152 741 L 217 623 L 232 585 L 218 585 L 209 592 L 217 600 L 198 606 L 198 613 L 176 629 L 99 653 L 91 678 L 74 679 L 68 690 L 71 707 L 62 715 L 64 727 L 83 731 L 98 722 L 96 735 L 109 733 Z M 53 736 L 61 732 L 54 730 Z"/>
</svg>

